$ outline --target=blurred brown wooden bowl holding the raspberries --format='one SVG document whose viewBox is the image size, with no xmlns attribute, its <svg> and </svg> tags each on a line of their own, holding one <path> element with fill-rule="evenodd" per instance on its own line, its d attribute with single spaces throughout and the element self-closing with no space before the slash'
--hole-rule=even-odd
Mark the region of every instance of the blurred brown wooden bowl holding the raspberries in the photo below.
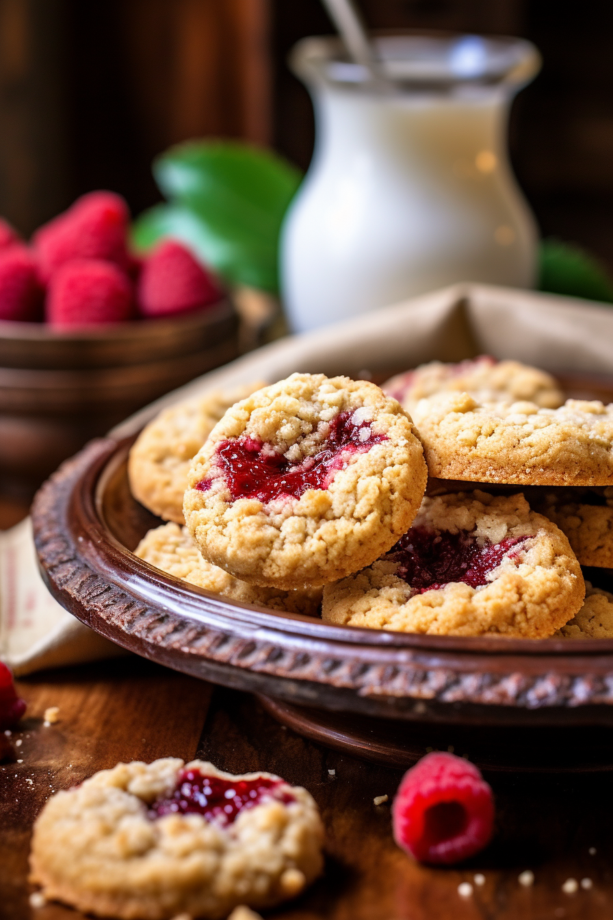
<svg viewBox="0 0 613 920">
<path fill-rule="evenodd" d="M 227 300 L 176 319 L 76 331 L 0 321 L 3 486 L 33 491 L 91 438 L 237 353 Z"/>
</svg>

